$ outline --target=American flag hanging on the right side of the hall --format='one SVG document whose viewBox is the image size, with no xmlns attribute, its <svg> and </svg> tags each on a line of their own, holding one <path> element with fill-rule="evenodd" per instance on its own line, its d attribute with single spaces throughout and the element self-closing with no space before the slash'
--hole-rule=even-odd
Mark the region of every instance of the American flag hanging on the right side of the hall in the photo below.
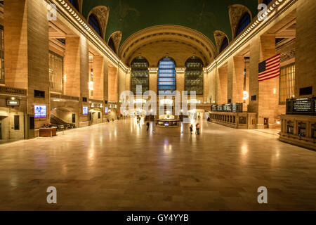
<svg viewBox="0 0 316 225">
<path fill-rule="evenodd" d="M 279 61 L 280 54 L 277 54 L 277 56 L 273 56 L 259 63 L 259 82 L 279 77 Z"/>
</svg>

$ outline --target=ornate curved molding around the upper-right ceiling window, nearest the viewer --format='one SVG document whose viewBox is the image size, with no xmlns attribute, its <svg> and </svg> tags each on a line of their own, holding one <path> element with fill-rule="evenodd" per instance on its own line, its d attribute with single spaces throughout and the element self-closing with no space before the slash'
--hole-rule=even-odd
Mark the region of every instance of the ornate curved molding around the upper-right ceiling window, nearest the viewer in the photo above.
<svg viewBox="0 0 316 225">
<path fill-rule="evenodd" d="M 244 13 L 249 13 L 250 18 L 252 20 L 251 11 L 246 6 L 243 6 L 240 4 L 234 4 L 234 5 L 229 6 L 230 27 L 232 27 L 232 39 L 235 38 L 239 20 L 242 18 Z"/>
</svg>

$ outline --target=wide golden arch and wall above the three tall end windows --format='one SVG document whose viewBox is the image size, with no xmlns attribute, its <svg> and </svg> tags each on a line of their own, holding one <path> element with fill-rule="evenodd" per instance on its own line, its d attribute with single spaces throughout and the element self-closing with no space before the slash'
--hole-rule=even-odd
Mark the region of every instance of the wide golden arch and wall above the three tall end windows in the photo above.
<svg viewBox="0 0 316 225">
<path fill-rule="evenodd" d="M 213 42 L 197 30 L 179 25 L 158 25 L 132 34 L 121 45 L 119 57 L 130 65 L 131 60 L 142 53 L 150 67 L 156 67 L 166 52 L 173 56 L 178 67 L 184 67 L 192 53 L 196 53 L 204 65 L 209 65 L 217 55 Z"/>
</svg>

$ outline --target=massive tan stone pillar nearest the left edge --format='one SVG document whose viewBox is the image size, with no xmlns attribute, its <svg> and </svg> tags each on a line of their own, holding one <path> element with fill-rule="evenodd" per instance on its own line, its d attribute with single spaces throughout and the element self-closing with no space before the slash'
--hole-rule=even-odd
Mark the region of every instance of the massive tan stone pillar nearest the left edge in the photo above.
<svg viewBox="0 0 316 225">
<path fill-rule="evenodd" d="M 27 89 L 25 113 L 34 115 L 34 105 L 46 105 L 46 118 L 35 119 L 35 129 L 50 118 L 46 6 L 44 1 L 25 0 L 4 4 L 5 84 Z M 34 90 L 44 91 L 44 98 L 34 98 Z"/>
</svg>

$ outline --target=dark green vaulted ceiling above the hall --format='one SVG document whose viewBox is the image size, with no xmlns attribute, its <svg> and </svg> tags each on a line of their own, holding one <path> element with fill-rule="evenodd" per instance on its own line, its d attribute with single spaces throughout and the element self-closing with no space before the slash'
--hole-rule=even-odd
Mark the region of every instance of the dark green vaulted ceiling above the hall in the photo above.
<svg viewBox="0 0 316 225">
<path fill-rule="evenodd" d="M 95 6 L 110 8 L 105 39 L 121 30 L 121 44 L 131 34 L 154 25 L 182 25 L 202 32 L 215 44 L 213 32 L 221 30 L 232 39 L 228 6 L 242 4 L 258 13 L 258 0 L 84 0 L 87 17 Z"/>
</svg>

